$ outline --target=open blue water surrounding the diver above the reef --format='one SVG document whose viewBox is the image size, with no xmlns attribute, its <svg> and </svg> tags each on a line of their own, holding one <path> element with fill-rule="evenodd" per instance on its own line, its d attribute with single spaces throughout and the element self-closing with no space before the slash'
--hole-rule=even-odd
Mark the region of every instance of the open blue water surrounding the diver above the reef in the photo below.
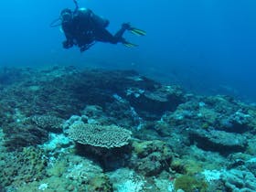
<svg viewBox="0 0 256 192">
<path fill-rule="evenodd" d="M 51 28 L 72 0 L 1 1 L 0 66 L 44 68 L 137 69 L 167 83 L 199 93 L 227 93 L 256 101 L 254 82 L 256 2 L 252 0 L 79 0 L 111 21 L 114 33 L 123 22 L 147 31 L 125 37 L 138 48 L 97 43 L 80 54 L 63 49 L 64 35 Z"/>
</svg>

